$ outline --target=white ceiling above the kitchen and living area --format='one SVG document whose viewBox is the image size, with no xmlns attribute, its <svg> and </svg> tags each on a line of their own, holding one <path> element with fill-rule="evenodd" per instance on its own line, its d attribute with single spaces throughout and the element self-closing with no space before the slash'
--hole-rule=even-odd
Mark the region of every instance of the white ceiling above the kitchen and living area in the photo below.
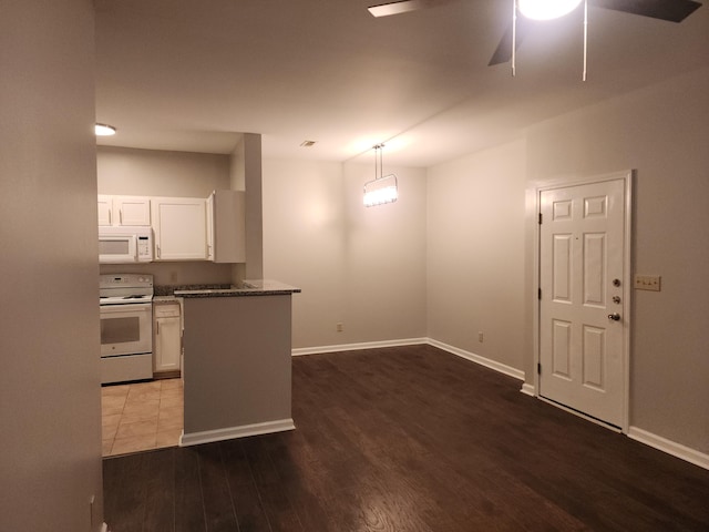
<svg viewBox="0 0 709 532">
<path fill-rule="evenodd" d="M 709 7 L 680 24 L 589 8 L 536 23 L 510 64 L 487 66 L 508 0 L 376 19 L 372 0 L 95 0 L 103 145 L 429 166 L 541 120 L 709 65 Z M 681 98 L 680 95 L 678 98 Z M 671 105 L 671 102 L 668 102 Z M 302 141 L 317 141 L 300 147 Z"/>
</svg>

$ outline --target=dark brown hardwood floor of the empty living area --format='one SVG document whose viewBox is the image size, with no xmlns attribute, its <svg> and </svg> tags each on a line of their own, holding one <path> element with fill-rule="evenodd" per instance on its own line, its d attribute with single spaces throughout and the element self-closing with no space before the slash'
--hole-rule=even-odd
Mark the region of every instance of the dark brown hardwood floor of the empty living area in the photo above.
<svg viewBox="0 0 709 532">
<path fill-rule="evenodd" d="M 292 371 L 295 431 L 105 459 L 110 530 L 709 531 L 709 471 L 433 347 Z"/>
</svg>

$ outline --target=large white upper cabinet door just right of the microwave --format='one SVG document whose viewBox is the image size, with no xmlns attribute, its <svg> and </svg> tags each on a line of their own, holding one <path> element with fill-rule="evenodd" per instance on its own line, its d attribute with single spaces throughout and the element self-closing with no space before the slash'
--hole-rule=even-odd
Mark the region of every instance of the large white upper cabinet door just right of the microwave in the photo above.
<svg viewBox="0 0 709 532">
<path fill-rule="evenodd" d="M 153 200 L 156 260 L 207 258 L 206 203 L 202 198 Z"/>
</svg>

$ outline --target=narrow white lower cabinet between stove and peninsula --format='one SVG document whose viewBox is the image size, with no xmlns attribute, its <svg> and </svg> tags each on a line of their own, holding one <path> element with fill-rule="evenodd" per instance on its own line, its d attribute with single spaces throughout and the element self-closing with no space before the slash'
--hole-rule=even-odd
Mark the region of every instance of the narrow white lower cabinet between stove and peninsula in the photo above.
<svg viewBox="0 0 709 532">
<path fill-rule="evenodd" d="M 153 319 L 153 372 L 179 371 L 182 355 L 179 301 L 155 303 Z"/>
</svg>

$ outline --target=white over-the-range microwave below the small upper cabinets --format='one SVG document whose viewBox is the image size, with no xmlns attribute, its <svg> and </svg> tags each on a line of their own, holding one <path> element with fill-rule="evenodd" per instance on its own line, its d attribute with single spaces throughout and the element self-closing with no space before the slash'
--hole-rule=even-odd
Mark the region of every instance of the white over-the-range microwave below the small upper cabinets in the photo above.
<svg viewBox="0 0 709 532">
<path fill-rule="evenodd" d="M 99 227 L 99 262 L 101 264 L 150 263 L 151 260 L 153 260 L 152 227 Z"/>
</svg>

